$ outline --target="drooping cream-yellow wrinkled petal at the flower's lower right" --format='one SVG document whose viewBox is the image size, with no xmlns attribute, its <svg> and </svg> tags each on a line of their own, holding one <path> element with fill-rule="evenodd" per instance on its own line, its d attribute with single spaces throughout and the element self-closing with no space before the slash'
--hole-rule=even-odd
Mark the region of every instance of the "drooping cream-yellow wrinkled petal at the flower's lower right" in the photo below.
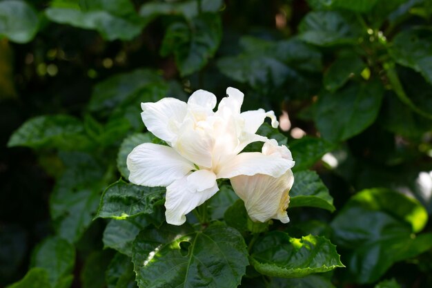
<svg viewBox="0 0 432 288">
<path fill-rule="evenodd" d="M 286 209 L 289 204 L 288 193 L 293 182 L 291 170 L 280 177 L 257 174 L 231 178 L 233 189 L 244 201 L 249 217 L 259 222 L 270 219 L 278 219 L 282 223 L 289 222 Z"/>
</svg>

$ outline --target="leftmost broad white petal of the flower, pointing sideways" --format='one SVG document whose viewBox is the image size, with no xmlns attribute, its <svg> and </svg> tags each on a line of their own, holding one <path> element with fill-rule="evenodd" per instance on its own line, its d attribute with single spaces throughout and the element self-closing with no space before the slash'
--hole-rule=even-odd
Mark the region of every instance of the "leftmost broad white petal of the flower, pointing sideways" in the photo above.
<svg viewBox="0 0 432 288">
<path fill-rule="evenodd" d="M 136 146 L 126 161 L 129 181 L 143 186 L 168 186 L 195 169 L 173 148 L 153 143 Z"/>
</svg>

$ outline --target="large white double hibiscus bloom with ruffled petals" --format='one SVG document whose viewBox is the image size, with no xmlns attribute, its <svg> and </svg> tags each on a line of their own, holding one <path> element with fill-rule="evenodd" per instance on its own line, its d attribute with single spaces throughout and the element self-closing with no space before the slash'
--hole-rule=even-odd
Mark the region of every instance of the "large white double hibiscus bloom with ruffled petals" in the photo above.
<svg viewBox="0 0 432 288">
<path fill-rule="evenodd" d="M 293 179 L 291 153 L 285 146 L 277 146 L 274 140 L 269 142 L 256 134 L 266 117 L 271 118 L 274 128 L 277 127 L 275 113 L 263 109 L 240 113 L 244 94 L 235 88 L 228 88 L 226 94 L 228 97 L 221 100 L 216 112 L 213 109 L 217 99 L 205 90 L 195 91 L 187 103 L 169 97 L 155 103 L 142 103 L 141 117 L 148 131 L 168 146 L 144 143 L 135 147 L 127 160 L 129 181 L 143 186 L 166 186 L 166 222 L 170 224 L 183 224 L 187 213 L 215 195 L 219 191 L 216 182 L 219 178 L 231 179 L 235 191 L 241 191 L 237 193 L 244 200 L 249 199 L 250 193 L 273 193 L 273 211 L 266 213 L 268 217 L 255 216 L 262 214 L 257 209 L 259 204 L 255 207 L 246 204 L 246 209 L 254 220 L 276 218 L 287 222 L 286 212 L 282 215 L 278 211 L 286 209 L 293 182 L 281 180 Z M 268 142 L 263 146 L 263 153 L 240 153 L 257 141 Z M 250 178 L 242 176 L 259 177 L 253 179 L 263 185 L 264 182 L 277 183 L 272 188 L 256 191 L 247 183 Z M 245 183 L 250 191 L 244 189 Z M 282 192 L 271 189 L 282 189 Z M 284 202 L 282 208 L 281 201 Z"/>
</svg>

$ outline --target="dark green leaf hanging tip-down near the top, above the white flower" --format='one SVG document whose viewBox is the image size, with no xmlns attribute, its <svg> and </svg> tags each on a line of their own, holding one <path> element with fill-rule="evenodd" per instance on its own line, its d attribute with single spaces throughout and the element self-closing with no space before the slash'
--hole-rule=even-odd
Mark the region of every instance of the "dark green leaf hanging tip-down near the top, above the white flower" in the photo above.
<svg viewBox="0 0 432 288">
<path fill-rule="evenodd" d="M 203 68 L 215 55 L 222 39 L 219 15 L 204 13 L 190 23 L 175 22 L 168 27 L 161 46 L 161 55 L 174 54 L 181 77 Z"/>
</svg>

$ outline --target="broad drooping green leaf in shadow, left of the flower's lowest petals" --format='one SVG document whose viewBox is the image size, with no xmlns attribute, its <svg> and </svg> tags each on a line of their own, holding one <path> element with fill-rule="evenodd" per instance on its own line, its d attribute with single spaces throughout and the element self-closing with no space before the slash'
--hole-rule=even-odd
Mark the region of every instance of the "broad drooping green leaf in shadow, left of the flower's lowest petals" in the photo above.
<svg viewBox="0 0 432 288">
<path fill-rule="evenodd" d="M 50 214 L 57 234 L 76 242 L 97 211 L 105 168 L 86 153 L 60 153 L 67 167 L 50 195 Z"/>
</svg>

